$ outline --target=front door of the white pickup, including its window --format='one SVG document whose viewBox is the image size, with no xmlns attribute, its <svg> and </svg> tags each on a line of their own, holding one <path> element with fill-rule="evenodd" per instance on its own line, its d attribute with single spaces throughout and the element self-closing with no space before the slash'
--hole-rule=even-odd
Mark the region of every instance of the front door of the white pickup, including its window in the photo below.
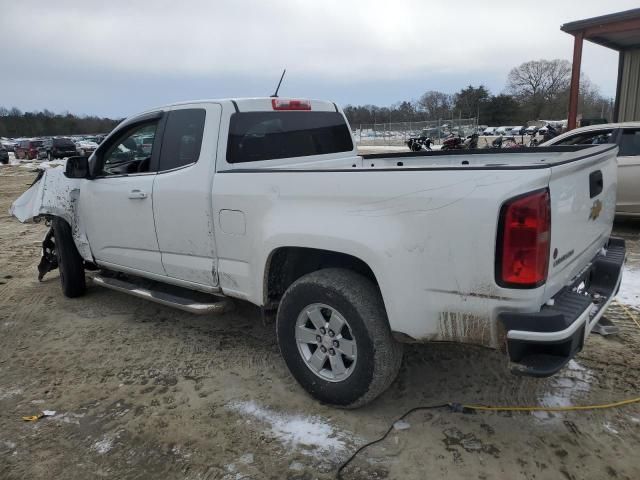
<svg viewBox="0 0 640 480">
<path fill-rule="evenodd" d="M 132 120 L 90 160 L 96 176 L 80 191 L 80 215 L 98 262 L 166 275 L 153 218 L 164 118 Z"/>
</svg>

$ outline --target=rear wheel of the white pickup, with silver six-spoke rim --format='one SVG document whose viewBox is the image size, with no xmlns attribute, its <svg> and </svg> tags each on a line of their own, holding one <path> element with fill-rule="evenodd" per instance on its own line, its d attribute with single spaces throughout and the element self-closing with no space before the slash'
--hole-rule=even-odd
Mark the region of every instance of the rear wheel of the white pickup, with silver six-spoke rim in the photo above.
<svg viewBox="0 0 640 480">
<path fill-rule="evenodd" d="M 311 322 L 308 312 L 313 313 L 316 325 L 326 322 L 326 334 Z M 332 332 L 332 323 L 338 332 Z M 380 291 L 369 279 L 350 270 L 318 270 L 296 280 L 282 297 L 276 330 L 289 371 L 321 402 L 361 407 L 384 392 L 398 375 L 403 348 L 391 335 Z M 309 343 L 299 343 L 297 337 L 303 331 Z M 355 348 L 349 349 L 348 342 Z M 332 345 L 336 348 L 330 348 Z M 322 347 L 326 353 L 320 352 Z M 352 355 L 343 353 L 347 351 Z M 309 358 L 318 353 L 324 360 L 319 360 L 320 368 L 314 371 Z M 334 361 L 338 368 L 334 369 Z M 334 373 L 341 370 L 339 364 L 346 367 L 344 374 Z"/>
</svg>

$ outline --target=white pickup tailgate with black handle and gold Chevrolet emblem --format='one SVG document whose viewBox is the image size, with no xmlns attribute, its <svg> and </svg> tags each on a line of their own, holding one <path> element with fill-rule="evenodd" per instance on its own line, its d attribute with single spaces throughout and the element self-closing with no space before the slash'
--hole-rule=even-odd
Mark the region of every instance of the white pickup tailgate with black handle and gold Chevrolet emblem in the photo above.
<svg viewBox="0 0 640 480">
<path fill-rule="evenodd" d="M 551 168 L 551 243 L 545 300 L 579 274 L 605 245 L 616 208 L 617 147 L 585 149 Z"/>
</svg>

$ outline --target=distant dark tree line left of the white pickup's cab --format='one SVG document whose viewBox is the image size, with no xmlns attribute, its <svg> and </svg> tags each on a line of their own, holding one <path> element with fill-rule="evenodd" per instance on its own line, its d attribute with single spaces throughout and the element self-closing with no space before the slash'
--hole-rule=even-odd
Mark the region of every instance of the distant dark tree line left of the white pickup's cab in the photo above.
<svg viewBox="0 0 640 480">
<path fill-rule="evenodd" d="M 54 113 L 49 110 L 22 112 L 15 107 L 8 109 L 0 106 L 0 137 L 108 133 L 120 121 L 96 116 Z"/>
</svg>

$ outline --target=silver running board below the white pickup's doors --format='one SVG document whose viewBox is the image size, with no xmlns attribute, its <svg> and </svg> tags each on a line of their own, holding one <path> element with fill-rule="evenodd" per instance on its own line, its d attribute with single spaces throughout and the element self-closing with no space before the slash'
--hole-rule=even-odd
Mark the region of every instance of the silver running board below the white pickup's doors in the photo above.
<svg viewBox="0 0 640 480">
<path fill-rule="evenodd" d="M 87 276 L 96 285 L 110 288 L 111 290 L 115 290 L 117 292 L 128 293 L 129 295 L 133 295 L 134 297 L 144 298 L 145 300 L 150 300 L 161 305 L 177 308 L 185 312 L 195 313 L 196 315 L 220 315 L 231 310 L 232 306 L 231 301 L 223 297 L 217 297 L 219 298 L 219 300 L 207 302 L 189 298 L 188 295 L 178 295 L 175 293 L 161 291 L 165 290 L 167 286 L 164 284 L 158 284 L 156 282 L 143 281 L 141 283 L 144 283 L 144 285 L 141 285 L 140 283 L 136 283 L 135 281 L 130 281 L 128 279 L 125 280 L 122 278 L 105 277 L 97 273 L 89 274 Z M 158 289 L 153 288 L 156 285 L 158 286 Z M 212 297 L 212 299 L 216 298 L 213 295 L 199 294 L 198 292 L 191 292 L 190 290 L 180 287 L 176 287 L 175 290 L 183 291 L 185 293 L 193 293 L 194 295 L 198 295 L 200 297 L 206 296 Z"/>
</svg>

